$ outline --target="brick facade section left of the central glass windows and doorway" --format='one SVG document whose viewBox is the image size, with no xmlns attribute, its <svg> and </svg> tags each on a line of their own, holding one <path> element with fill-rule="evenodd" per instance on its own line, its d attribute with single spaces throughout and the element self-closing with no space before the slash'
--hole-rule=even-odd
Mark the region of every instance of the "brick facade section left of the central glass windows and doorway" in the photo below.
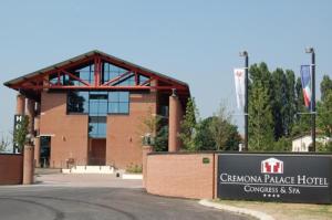
<svg viewBox="0 0 332 220">
<path fill-rule="evenodd" d="M 51 167 L 65 167 L 69 158 L 86 164 L 87 121 L 87 115 L 66 115 L 66 93 L 42 93 L 40 134 L 54 135 L 51 137 Z"/>
</svg>

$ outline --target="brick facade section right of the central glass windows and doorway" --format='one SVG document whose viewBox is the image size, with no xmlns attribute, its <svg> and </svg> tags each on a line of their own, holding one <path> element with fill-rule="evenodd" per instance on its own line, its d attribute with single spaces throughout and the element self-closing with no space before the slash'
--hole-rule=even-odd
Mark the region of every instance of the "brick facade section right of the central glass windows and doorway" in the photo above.
<svg viewBox="0 0 332 220">
<path fill-rule="evenodd" d="M 106 164 L 117 168 L 142 166 L 143 121 L 156 113 L 156 94 L 131 94 L 128 115 L 107 116 Z"/>
</svg>

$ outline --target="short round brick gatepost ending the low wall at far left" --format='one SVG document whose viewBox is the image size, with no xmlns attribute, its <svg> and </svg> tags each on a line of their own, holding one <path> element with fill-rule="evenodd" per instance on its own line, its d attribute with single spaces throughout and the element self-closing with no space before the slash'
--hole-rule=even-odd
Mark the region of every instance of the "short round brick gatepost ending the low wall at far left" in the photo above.
<svg viewBox="0 0 332 220">
<path fill-rule="evenodd" d="M 23 185 L 33 184 L 33 145 L 24 145 L 23 151 Z"/>
</svg>

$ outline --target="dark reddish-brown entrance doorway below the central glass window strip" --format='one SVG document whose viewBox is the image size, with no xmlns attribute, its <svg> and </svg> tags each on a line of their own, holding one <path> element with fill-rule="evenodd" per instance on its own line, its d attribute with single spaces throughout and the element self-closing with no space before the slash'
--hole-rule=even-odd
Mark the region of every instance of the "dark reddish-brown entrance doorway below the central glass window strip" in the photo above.
<svg viewBox="0 0 332 220">
<path fill-rule="evenodd" d="M 90 144 L 89 165 L 104 166 L 106 163 L 106 139 L 92 138 Z"/>
</svg>

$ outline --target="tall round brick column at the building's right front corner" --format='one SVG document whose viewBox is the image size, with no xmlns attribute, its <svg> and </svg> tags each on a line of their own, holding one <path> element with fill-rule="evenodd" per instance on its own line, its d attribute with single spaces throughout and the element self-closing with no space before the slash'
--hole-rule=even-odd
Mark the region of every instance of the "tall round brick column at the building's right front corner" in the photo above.
<svg viewBox="0 0 332 220">
<path fill-rule="evenodd" d="M 169 96 L 168 117 L 168 151 L 177 151 L 180 148 L 178 133 L 180 132 L 180 102 L 175 91 Z"/>
</svg>

